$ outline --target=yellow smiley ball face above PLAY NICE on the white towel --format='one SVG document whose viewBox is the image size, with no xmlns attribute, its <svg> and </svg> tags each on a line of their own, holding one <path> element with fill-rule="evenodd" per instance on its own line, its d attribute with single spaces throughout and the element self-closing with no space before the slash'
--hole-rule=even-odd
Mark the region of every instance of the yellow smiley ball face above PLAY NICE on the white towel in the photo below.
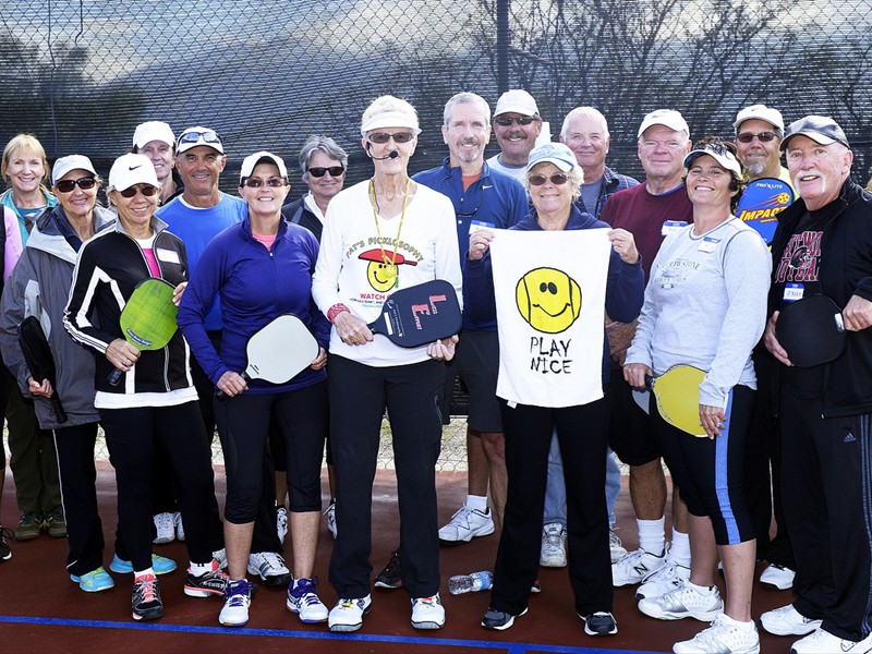
<svg viewBox="0 0 872 654">
<path fill-rule="evenodd" d="M 581 312 L 581 288 L 556 268 L 530 270 L 518 280 L 514 299 L 523 319 L 545 334 L 566 331 Z"/>
</svg>

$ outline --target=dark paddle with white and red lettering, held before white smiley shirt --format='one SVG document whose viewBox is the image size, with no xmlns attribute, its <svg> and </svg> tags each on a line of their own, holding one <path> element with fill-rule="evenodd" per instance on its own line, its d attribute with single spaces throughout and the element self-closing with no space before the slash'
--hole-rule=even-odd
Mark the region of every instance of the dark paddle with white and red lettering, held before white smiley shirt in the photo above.
<svg viewBox="0 0 872 654">
<path fill-rule="evenodd" d="M 462 323 L 455 287 L 434 279 L 393 292 L 367 327 L 400 348 L 417 348 L 453 336 Z"/>
</svg>

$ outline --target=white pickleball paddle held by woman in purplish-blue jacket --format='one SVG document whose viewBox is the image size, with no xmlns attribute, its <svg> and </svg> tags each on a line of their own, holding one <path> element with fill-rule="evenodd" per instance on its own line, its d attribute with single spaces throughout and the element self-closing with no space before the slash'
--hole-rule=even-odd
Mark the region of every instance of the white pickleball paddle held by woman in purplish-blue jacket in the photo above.
<svg viewBox="0 0 872 654">
<path fill-rule="evenodd" d="M 282 314 L 252 335 L 245 354 L 249 361 L 241 375 L 246 383 L 263 379 L 284 384 L 315 361 L 318 342 L 300 318 Z M 220 400 L 227 396 L 216 390 L 215 397 Z"/>
</svg>

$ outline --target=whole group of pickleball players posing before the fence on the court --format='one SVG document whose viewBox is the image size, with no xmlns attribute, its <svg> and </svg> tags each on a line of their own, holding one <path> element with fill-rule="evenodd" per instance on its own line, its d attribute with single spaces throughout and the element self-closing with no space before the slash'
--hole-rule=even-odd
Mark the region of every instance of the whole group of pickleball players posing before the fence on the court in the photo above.
<svg viewBox="0 0 872 654">
<path fill-rule="evenodd" d="M 287 607 L 302 621 L 355 631 L 373 603 L 372 487 L 387 411 L 400 530 L 376 586 L 407 589 L 414 628 L 446 622 L 439 543 L 499 530 L 486 629 L 508 629 L 526 613 L 530 593 L 542 591 L 540 565 L 568 566 L 589 635 L 617 633 L 614 589 L 639 584 L 646 616 L 711 622 L 675 652 L 755 653 L 754 569 L 766 560 L 760 582 L 792 589 L 794 601 L 760 617 L 765 630 L 804 637 L 792 645 L 798 654 L 870 650 L 872 195 L 850 180 L 839 125 L 808 116 L 785 126 L 776 109 L 752 105 L 738 112 L 731 138 L 694 144 L 683 117 L 659 109 L 638 130 L 640 182 L 605 165 L 608 124 L 592 107 L 569 112 L 557 143 L 541 137 L 542 116 L 521 89 L 500 96 L 493 117 L 481 96 L 457 94 L 443 123 L 443 165 L 410 175 L 417 114 L 402 99 L 377 98 L 360 125 L 372 175 L 343 189 L 348 154 L 312 136 L 299 157 L 308 193 L 290 204 L 288 168 L 269 152 L 243 160 L 241 199 L 220 192 L 225 144 L 208 128 L 175 137 L 166 123 L 140 125 L 132 152 L 109 171 L 113 210 L 97 204 L 104 181 L 87 157 L 61 157 L 48 175 L 38 141 L 13 140 L 3 153 L 14 202 L 4 209 L 0 349 L 15 383 L 4 403 L 8 417 L 29 412 L 39 451 L 57 451 L 63 498 L 52 505 L 46 491 L 47 499 L 24 505 L 20 495 L 22 523 L 38 513 L 33 520 L 51 530 L 51 516 L 57 528 L 65 512 L 71 579 L 85 591 L 112 588 L 95 489 L 99 424 L 118 480 L 110 568 L 133 572 L 134 619 L 164 613 L 157 577 L 175 564 L 152 545 L 166 542 L 156 532 L 166 507 L 187 546 L 184 592 L 222 596 L 221 625 L 247 622 L 247 573 L 288 583 Z M 485 160 L 492 130 L 500 152 Z M 771 252 L 736 215 L 744 185 L 760 179 L 780 179 L 798 196 L 777 216 Z M 519 360 L 497 300 L 506 291 L 500 240 L 541 250 L 554 242 L 548 232 L 585 232 L 592 243 L 604 234 L 593 313 L 603 351 L 581 400 L 543 399 L 506 380 Z M 158 350 L 137 347 L 120 323 L 149 278 L 169 282 L 178 305 L 179 330 Z M 367 325 L 395 290 L 433 279 L 462 300 L 458 335 L 411 349 L 373 335 Z M 524 298 L 528 313 L 560 323 L 540 331 L 560 332 L 580 313 L 590 322 L 571 279 L 565 306 L 548 313 L 544 300 L 534 303 L 534 292 L 562 292 L 557 278 L 542 279 L 534 290 L 510 289 L 519 310 Z M 788 303 L 814 294 L 843 307 L 847 348 L 800 367 L 776 325 Z M 566 312 L 569 323 L 559 318 Z M 243 377 L 249 340 L 288 313 L 317 342 L 315 359 L 286 383 Z M 29 316 L 55 356 L 51 382 L 34 378 L 22 352 L 16 330 Z M 704 437 L 674 426 L 653 397 L 639 405 L 649 379 L 677 365 L 704 372 Z M 457 377 L 470 398 L 469 488 L 439 529 L 435 467 Z M 222 521 L 210 464 L 216 426 Z M 325 445 L 338 596 L 330 609 L 314 576 Z M 630 469 L 632 552 L 615 533 L 615 455 Z M 673 480 L 668 542 L 663 462 Z"/>
</svg>

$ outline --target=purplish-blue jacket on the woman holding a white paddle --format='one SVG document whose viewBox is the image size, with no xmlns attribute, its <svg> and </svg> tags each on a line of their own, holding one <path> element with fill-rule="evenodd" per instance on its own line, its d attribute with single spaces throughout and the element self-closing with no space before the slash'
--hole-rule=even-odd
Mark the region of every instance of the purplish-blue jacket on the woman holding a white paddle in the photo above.
<svg viewBox="0 0 872 654">
<path fill-rule="evenodd" d="M 182 295 L 178 319 L 194 356 L 213 384 L 228 371 L 245 370 L 249 339 L 280 314 L 294 314 L 318 344 L 327 348 L 330 324 L 312 300 L 312 274 L 317 258 L 318 242 L 312 232 L 284 220 L 279 221 L 276 242 L 269 251 L 252 235 L 247 217 L 209 242 Z M 216 294 L 223 318 L 220 355 L 204 325 Z M 326 376 L 324 370 L 306 368 L 288 384 L 251 382 L 249 392 L 293 390 L 322 382 Z"/>
</svg>

